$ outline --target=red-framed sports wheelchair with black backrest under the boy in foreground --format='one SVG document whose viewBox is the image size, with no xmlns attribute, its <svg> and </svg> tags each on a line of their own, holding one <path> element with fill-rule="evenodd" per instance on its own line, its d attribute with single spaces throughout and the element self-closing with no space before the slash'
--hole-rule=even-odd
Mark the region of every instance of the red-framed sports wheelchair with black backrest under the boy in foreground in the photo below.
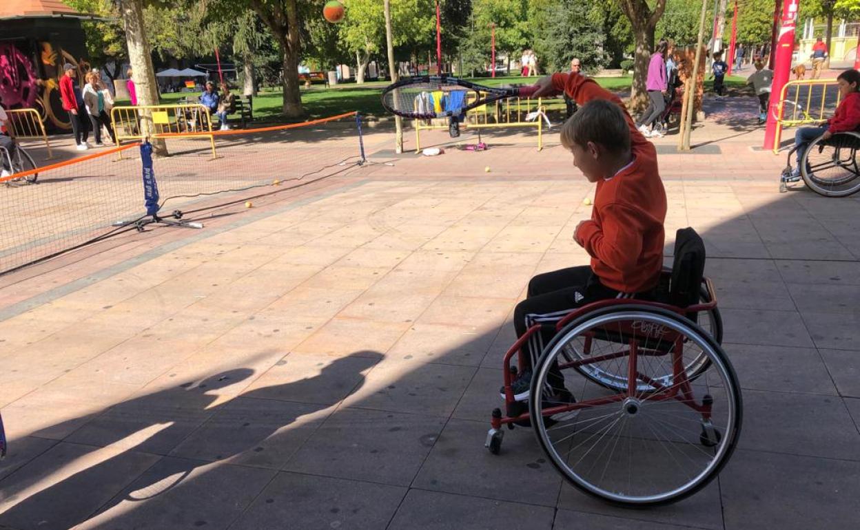
<svg viewBox="0 0 860 530">
<path fill-rule="evenodd" d="M 501 452 L 502 425 L 531 427 L 570 484 L 611 503 L 673 503 L 701 490 L 734 451 L 742 417 L 703 271 L 702 239 L 679 230 L 654 301 L 593 302 L 551 325 L 556 335 L 532 367 L 524 404 L 511 384 L 525 369 L 523 344 L 541 328 L 531 326 L 504 356 L 507 413 L 492 412 L 489 451 Z M 559 401 L 562 384 L 568 399 Z"/>
</svg>

